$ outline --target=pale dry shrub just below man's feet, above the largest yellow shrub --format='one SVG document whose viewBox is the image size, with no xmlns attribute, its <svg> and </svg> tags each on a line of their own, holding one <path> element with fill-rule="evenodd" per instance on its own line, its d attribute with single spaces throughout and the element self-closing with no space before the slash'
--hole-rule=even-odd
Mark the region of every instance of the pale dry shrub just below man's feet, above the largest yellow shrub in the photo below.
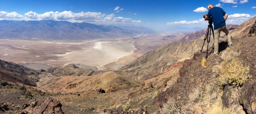
<svg viewBox="0 0 256 114">
<path fill-rule="evenodd" d="M 237 58 L 240 55 L 240 51 L 238 48 L 227 48 L 225 51 L 222 52 L 221 58 L 224 61 L 230 61 L 234 58 Z"/>
</svg>

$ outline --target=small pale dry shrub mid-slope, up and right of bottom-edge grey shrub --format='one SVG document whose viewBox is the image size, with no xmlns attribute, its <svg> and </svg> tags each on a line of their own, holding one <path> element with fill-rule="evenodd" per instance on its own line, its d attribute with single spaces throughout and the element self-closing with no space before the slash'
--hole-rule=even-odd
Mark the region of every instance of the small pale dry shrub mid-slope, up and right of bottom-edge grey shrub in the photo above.
<svg viewBox="0 0 256 114">
<path fill-rule="evenodd" d="M 200 86 L 196 86 L 193 92 L 188 95 L 188 98 L 193 102 L 200 102 L 203 100 L 203 90 Z"/>
</svg>

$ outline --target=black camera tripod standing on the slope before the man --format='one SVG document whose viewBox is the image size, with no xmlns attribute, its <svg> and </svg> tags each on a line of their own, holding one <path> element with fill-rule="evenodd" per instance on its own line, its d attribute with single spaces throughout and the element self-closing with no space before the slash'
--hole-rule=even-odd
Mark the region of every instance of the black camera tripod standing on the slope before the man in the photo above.
<svg viewBox="0 0 256 114">
<path fill-rule="evenodd" d="M 207 51 L 206 52 L 202 52 L 203 50 L 203 47 L 204 47 L 204 43 L 203 43 L 203 46 L 202 46 L 202 49 L 200 52 L 202 53 L 206 53 L 206 58 L 208 57 L 209 53 L 208 53 L 208 46 L 209 46 L 209 42 L 210 42 L 210 39 L 211 39 L 211 32 L 212 32 L 212 35 L 213 35 L 213 39 L 214 39 L 214 33 L 213 33 L 213 28 L 212 28 L 212 21 L 209 21 L 208 22 L 209 25 L 208 25 L 208 28 L 207 28 L 207 31 L 206 31 L 206 35 L 205 35 L 205 38 L 204 38 L 204 42 L 205 40 L 207 39 Z M 209 33 L 210 32 L 210 33 Z"/>
</svg>

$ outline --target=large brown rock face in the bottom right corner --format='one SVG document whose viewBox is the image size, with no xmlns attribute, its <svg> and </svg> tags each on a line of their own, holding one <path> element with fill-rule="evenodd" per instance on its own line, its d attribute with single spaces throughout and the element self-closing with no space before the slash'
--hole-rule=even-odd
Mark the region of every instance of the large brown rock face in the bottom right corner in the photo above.
<svg viewBox="0 0 256 114">
<path fill-rule="evenodd" d="M 241 88 L 239 102 L 244 107 L 247 114 L 256 113 L 256 82 L 249 81 Z"/>
</svg>

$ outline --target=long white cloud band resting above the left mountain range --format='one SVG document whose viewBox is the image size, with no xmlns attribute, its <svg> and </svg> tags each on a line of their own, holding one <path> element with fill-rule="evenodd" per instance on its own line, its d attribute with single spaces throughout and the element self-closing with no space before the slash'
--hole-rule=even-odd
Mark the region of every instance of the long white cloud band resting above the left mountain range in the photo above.
<svg viewBox="0 0 256 114">
<path fill-rule="evenodd" d="M 121 9 L 120 9 L 121 10 Z M 122 9 L 123 10 L 123 9 Z M 0 11 L 0 20 L 66 20 L 69 22 L 89 22 L 94 24 L 124 24 L 130 23 L 137 24 L 140 20 L 132 20 L 131 18 L 115 17 L 114 14 L 106 15 L 101 12 L 79 12 L 74 13 L 72 11 L 63 12 L 45 12 L 44 14 L 37 14 L 36 12 L 30 11 L 25 13 L 25 16 L 17 14 L 16 12 L 5 12 Z"/>
</svg>

